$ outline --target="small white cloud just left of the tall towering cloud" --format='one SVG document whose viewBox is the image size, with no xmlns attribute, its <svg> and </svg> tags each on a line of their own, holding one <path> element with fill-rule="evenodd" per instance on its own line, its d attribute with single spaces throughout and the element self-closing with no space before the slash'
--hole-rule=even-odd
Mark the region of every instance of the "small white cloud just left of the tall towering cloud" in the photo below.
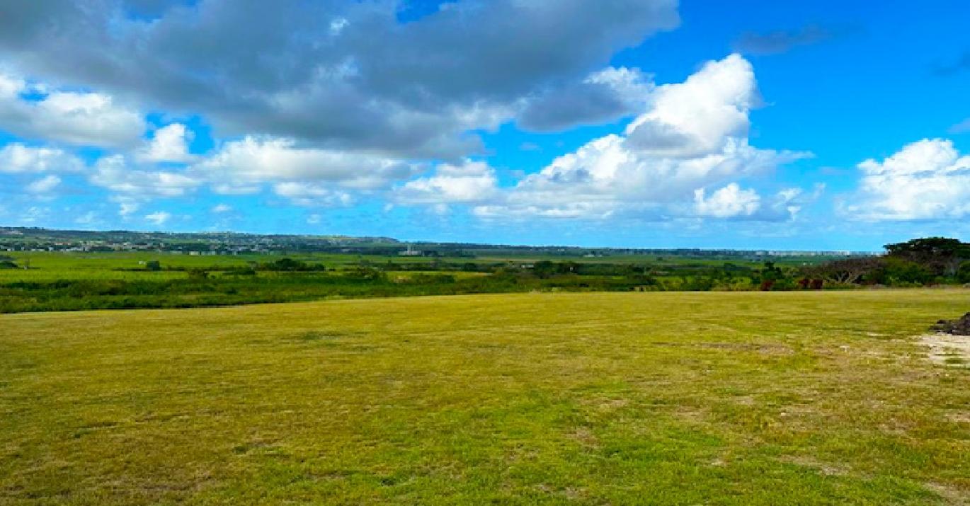
<svg viewBox="0 0 970 506">
<path fill-rule="evenodd" d="M 495 171 L 484 162 L 442 164 L 435 175 L 404 183 L 395 191 L 395 200 L 403 204 L 485 203 L 496 197 L 496 182 Z"/>
</svg>

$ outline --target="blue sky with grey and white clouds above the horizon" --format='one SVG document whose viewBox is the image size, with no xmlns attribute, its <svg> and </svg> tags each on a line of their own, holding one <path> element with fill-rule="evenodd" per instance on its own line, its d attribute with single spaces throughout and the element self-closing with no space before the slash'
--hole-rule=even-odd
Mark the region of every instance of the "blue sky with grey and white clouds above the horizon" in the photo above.
<svg viewBox="0 0 970 506">
<path fill-rule="evenodd" d="M 0 226 L 970 240 L 970 3 L 0 0 Z"/>
</svg>

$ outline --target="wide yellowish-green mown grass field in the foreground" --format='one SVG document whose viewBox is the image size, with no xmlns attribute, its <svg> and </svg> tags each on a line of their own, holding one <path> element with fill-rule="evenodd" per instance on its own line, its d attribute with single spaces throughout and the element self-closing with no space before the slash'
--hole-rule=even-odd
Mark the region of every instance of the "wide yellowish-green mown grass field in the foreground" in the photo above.
<svg viewBox="0 0 970 506">
<path fill-rule="evenodd" d="M 967 504 L 960 290 L 0 315 L 2 504 Z"/>
</svg>

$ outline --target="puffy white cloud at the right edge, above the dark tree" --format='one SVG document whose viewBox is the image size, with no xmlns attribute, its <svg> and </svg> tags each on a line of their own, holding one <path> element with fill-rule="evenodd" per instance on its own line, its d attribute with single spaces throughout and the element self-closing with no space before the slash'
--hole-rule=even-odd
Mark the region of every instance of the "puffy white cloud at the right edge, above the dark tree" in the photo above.
<svg viewBox="0 0 970 506">
<path fill-rule="evenodd" d="M 924 139 L 882 162 L 858 164 L 857 194 L 842 211 L 866 221 L 932 220 L 970 215 L 970 155 L 952 141 Z"/>
</svg>

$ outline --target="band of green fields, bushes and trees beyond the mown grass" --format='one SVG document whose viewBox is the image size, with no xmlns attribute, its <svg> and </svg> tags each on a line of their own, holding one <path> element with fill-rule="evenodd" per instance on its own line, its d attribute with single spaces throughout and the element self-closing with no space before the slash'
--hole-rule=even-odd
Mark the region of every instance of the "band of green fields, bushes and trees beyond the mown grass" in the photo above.
<svg viewBox="0 0 970 506">
<path fill-rule="evenodd" d="M 528 257 L 521 251 L 447 256 L 448 251 L 424 257 L 14 251 L 0 259 L 0 268 L 8 267 L 0 269 L 0 313 L 533 291 L 791 291 L 970 282 L 968 244 L 933 237 L 888 244 L 880 257 L 816 257 L 813 262 L 804 257 L 725 261 L 673 252 L 570 257 L 545 251 Z"/>
</svg>

